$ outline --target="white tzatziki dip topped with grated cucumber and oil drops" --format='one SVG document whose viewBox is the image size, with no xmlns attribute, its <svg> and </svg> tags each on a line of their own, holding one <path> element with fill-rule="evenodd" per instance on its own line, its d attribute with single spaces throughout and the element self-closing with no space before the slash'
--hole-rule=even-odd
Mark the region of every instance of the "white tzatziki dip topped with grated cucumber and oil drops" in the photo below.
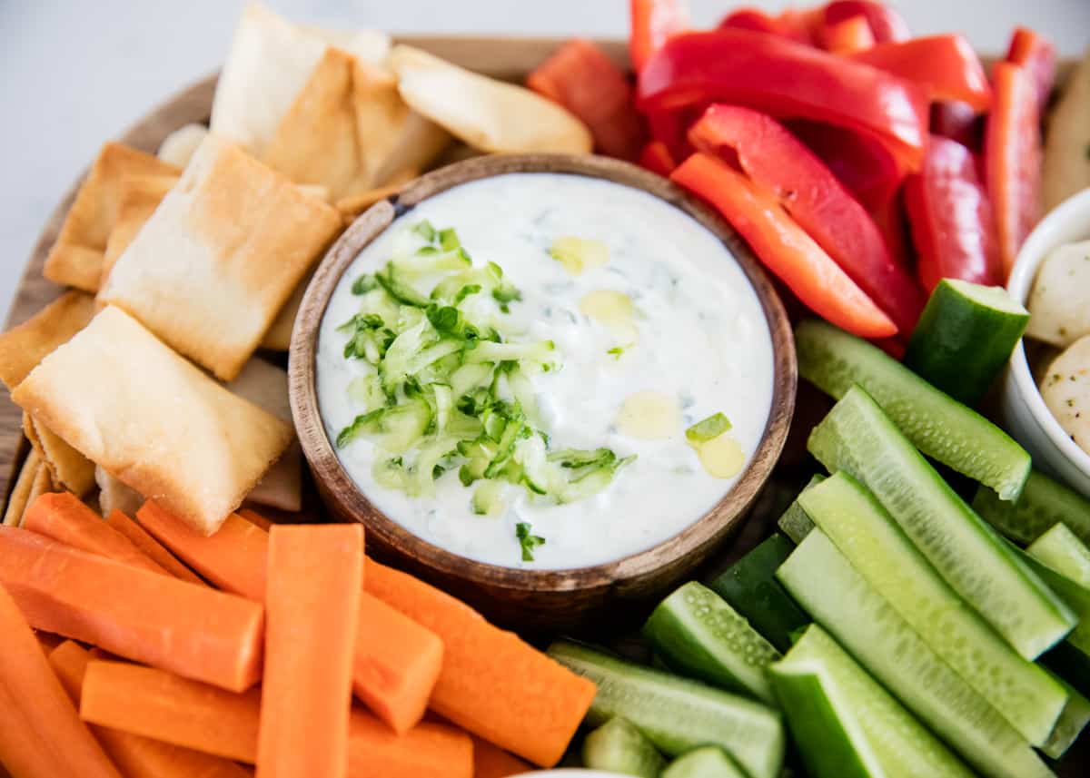
<svg viewBox="0 0 1090 778">
<path fill-rule="evenodd" d="M 617 560 L 700 519 L 773 392 L 761 304 L 713 233 L 639 190 L 553 173 L 400 216 L 340 280 L 316 367 L 326 433 L 378 510 L 534 569 Z"/>
</svg>

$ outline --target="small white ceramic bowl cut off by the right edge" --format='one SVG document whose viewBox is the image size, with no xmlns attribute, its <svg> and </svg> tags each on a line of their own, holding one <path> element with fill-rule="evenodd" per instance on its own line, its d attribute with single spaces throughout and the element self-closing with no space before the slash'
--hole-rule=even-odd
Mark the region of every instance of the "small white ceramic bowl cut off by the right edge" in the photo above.
<svg viewBox="0 0 1090 778">
<path fill-rule="evenodd" d="M 1007 291 L 1025 304 L 1044 256 L 1058 245 L 1090 239 L 1090 189 L 1064 200 L 1037 226 L 1010 271 Z M 1090 497 L 1090 454 L 1075 445 L 1041 398 L 1019 341 L 1004 377 L 1003 421 L 1033 457 L 1033 466 Z"/>
</svg>

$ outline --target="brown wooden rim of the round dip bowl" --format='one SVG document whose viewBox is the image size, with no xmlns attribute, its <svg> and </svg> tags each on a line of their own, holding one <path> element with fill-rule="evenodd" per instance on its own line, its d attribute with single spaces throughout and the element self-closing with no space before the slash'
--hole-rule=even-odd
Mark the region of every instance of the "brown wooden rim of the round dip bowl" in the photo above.
<svg viewBox="0 0 1090 778">
<path fill-rule="evenodd" d="M 562 570 L 507 568 L 447 550 L 410 532 L 375 508 L 341 466 L 318 412 L 317 339 L 322 318 L 341 277 L 359 253 L 396 217 L 417 203 L 471 181 L 507 173 L 561 173 L 605 179 L 642 190 L 673 205 L 708 229 L 738 262 L 765 316 L 772 340 L 773 387 L 760 442 L 735 484 L 699 519 L 654 546 L 619 559 Z M 674 183 L 616 159 L 592 155 L 528 154 L 476 157 L 450 165 L 379 200 L 352 222 L 330 247 L 310 281 L 295 319 L 288 361 L 292 417 L 303 453 L 316 479 L 347 503 L 348 512 L 416 564 L 473 584 L 517 592 L 570 592 L 609 587 L 668 567 L 708 549 L 737 524 L 764 486 L 787 440 L 795 411 L 798 372 L 790 321 L 778 293 L 735 231 L 712 209 Z"/>
</svg>

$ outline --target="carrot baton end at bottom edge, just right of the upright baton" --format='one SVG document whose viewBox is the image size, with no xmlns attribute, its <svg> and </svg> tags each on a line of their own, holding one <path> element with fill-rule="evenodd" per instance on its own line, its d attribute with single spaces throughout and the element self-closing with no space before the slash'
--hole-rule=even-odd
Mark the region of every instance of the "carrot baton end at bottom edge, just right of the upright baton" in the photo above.
<svg viewBox="0 0 1090 778">
<path fill-rule="evenodd" d="M 353 710 L 348 754 L 351 778 L 474 778 L 469 736 L 432 721 L 398 736 L 373 716 Z"/>
</svg>

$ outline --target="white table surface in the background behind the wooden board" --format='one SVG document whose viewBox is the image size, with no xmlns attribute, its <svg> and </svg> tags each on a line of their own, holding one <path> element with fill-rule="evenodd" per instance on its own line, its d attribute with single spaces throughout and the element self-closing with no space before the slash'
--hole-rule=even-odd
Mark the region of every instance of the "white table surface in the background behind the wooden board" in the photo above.
<svg viewBox="0 0 1090 778">
<path fill-rule="evenodd" d="M 216 70 L 241 0 L 0 0 L 0 311 L 38 231 L 102 141 Z M 300 21 L 401 33 L 623 36 L 627 0 L 270 0 Z M 690 0 L 698 25 L 732 7 Z M 1090 44 L 1090 0 L 895 0 L 918 34 L 1002 51 L 1016 23 L 1064 54 Z"/>
</svg>

